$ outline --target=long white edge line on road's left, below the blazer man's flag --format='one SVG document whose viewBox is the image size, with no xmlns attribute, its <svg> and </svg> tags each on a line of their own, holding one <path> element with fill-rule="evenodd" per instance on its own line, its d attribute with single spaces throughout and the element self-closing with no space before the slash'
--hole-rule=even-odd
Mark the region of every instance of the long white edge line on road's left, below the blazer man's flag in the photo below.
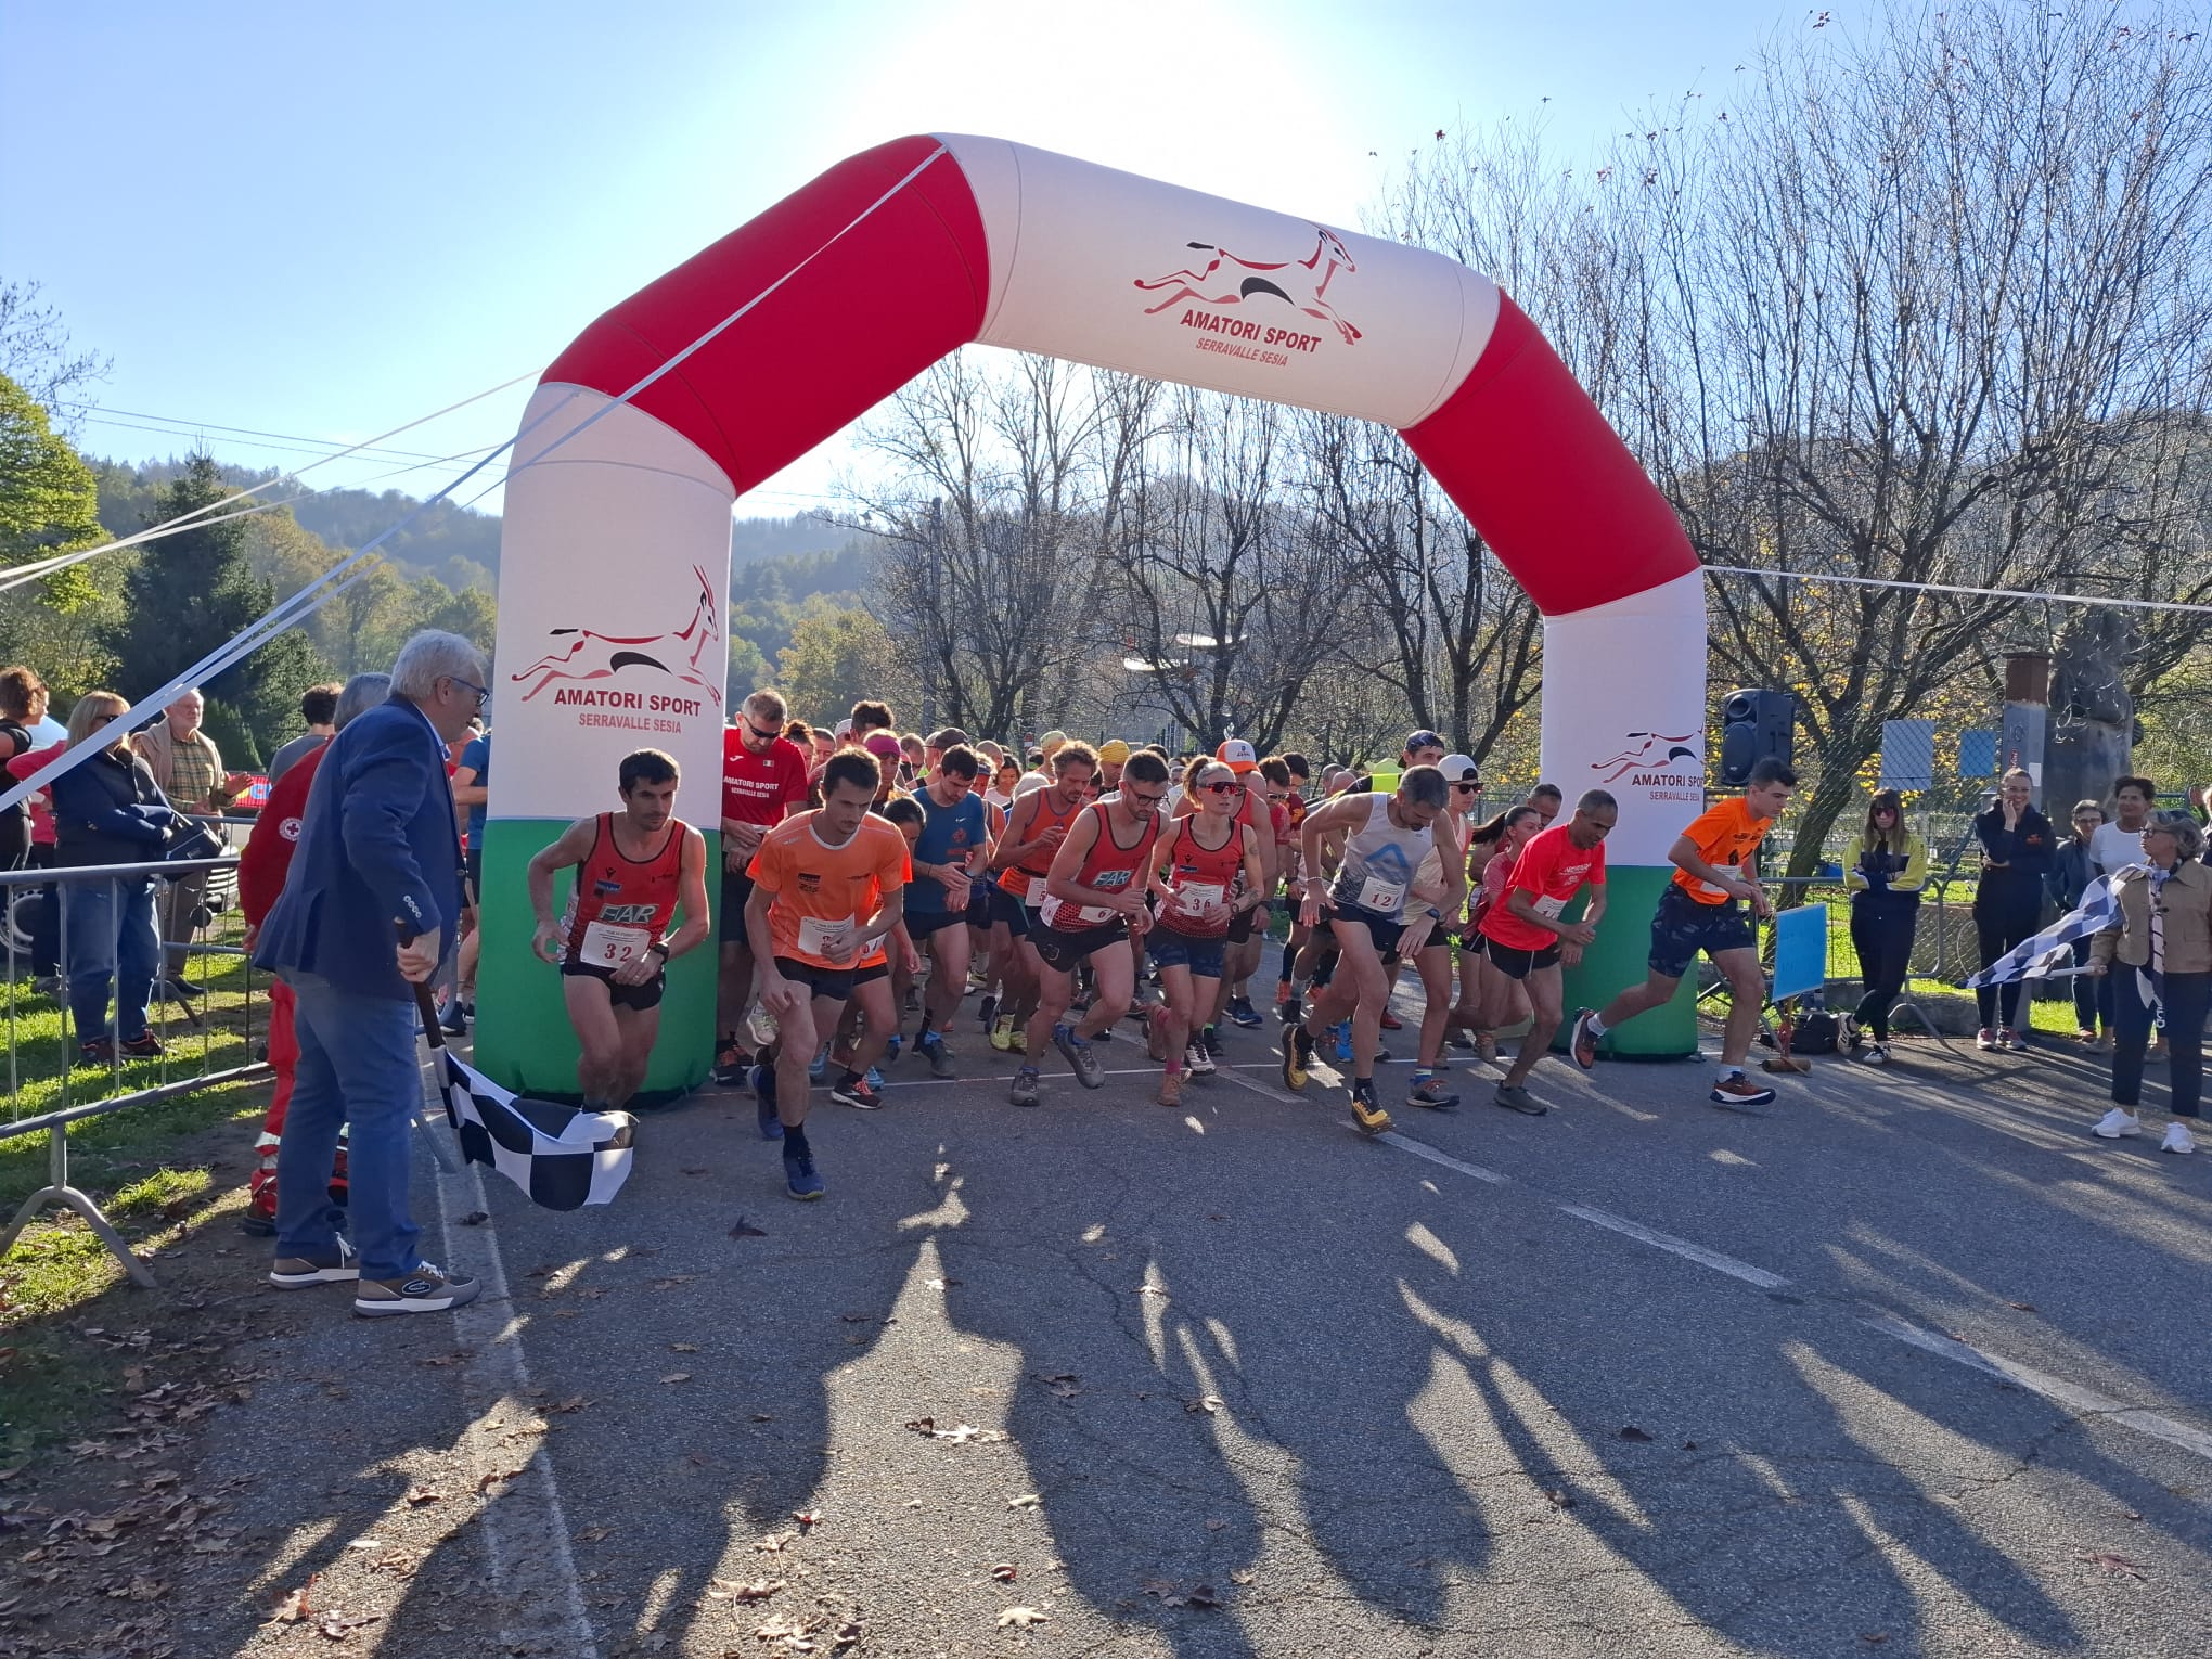
<svg viewBox="0 0 2212 1659">
<path fill-rule="evenodd" d="M 436 1099 L 436 1097 L 431 1097 Z M 445 1133 L 445 1113 L 427 1106 L 429 1133 Z M 460 1214 L 491 1208 L 482 1170 L 465 1164 L 438 1177 L 438 1223 L 445 1230 L 445 1265 L 473 1274 L 482 1292 L 453 1310 L 453 1334 L 469 1352 L 462 1367 L 462 1402 L 469 1411 L 465 1440 L 476 1478 L 500 1475 L 504 1491 L 484 1500 L 484 1553 L 500 1597 L 500 1648 L 507 1652 L 560 1652 L 597 1659 L 599 1639 L 584 1617 L 584 1590 L 568 1555 L 568 1517 L 553 1480 L 553 1451 L 544 1436 L 531 1458 L 515 1469 L 515 1451 L 500 1444 L 495 1422 L 540 1420 L 529 1402 L 531 1374 L 522 1358 L 522 1321 L 507 1287 L 507 1263 L 491 1223 L 458 1225 Z M 504 1411 L 502 1411 L 504 1407 Z"/>
</svg>

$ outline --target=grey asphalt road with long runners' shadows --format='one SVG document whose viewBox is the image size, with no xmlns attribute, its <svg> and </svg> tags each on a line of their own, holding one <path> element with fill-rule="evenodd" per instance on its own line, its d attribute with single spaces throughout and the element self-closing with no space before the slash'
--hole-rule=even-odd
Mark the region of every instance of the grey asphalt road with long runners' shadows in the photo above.
<svg viewBox="0 0 2212 1659">
<path fill-rule="evenodd" d="M 2212 1157 L 2090 1141 L 2095 1062 L 1462 1062 L 1376 1144 L 1272 1042 L 1018 1110 L 971 1035 L 816 1095 L 814 1206 L 719 1093 L 604 1210 L 422 1159 L 495 1283 L 310 1294 L 188 1650 L 327 1648 L 257 1619 L 321 1573 L 407 1657 L 2212 1655 Z"/>
</svg>

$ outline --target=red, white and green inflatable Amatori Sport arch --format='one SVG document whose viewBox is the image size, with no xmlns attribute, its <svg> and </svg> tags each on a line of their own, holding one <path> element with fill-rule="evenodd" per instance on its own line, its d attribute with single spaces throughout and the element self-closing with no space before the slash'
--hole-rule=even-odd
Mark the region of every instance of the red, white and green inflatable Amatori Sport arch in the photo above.
<svg viewBox="0 0 2212 1659">
<path fill-rule="evenodd" d="M 522 865 L 613 805 L 624 754 L 675 754 L 677 810 L 714 843 L 732 502 L 978 341 L 1396 427 L 1546 617 L 1544 774 L 1568 801 L 1604 783 L 1621 803 L 1582 1000 L 1644 975 L 1648 900 L 1703 799 L 1703 588 L 1666 500 L 1535 325 L 1420 248 L 1004 139 L 905 137 L 606 312 L 531 400 L 500 549 L 484 1071 L 575 1088 Z M 670 973 L 648 1088 L 706 1077 L 712 958 Z M 1686 1013 L 1624 1037 L 1694 1048 Z"/>
</svg>

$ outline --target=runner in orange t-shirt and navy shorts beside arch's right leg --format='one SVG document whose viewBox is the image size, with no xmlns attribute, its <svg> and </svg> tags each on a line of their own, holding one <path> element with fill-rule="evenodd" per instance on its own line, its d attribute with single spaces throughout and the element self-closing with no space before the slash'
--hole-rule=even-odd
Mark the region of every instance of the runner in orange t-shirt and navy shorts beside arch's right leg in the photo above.
<svg viewBox="0 0 2212 1659">
<path fill-rule="evenodd" d="M 1765 1106 L 1774 1091 L 1743 1075 L 1767 1000 L 1767 975 L 1759 967 L 1754 922 L 1774 914 L 1752 858 L 1767 830 L 1790 805 L 1796 772 L 1765 759 L 1752 768 L 1741 796 L 1708 807 L 1668 852 L 1674 880 L 1659 896 L 1652 916 L 1650 973 L 1606 1004 L 1604 1013 L 1575 1015 L 1568 1053 L 1588 1071 L 1597 1064 L 1597 1042 L 1621 1020 L 1672 1000 L 1681 975 L 1703 951 L 1728 978 L 1728 1031 L 1721 1037 L 1721 1077 L 1712 1086 L 1714 1106 Z"/>
</svg>

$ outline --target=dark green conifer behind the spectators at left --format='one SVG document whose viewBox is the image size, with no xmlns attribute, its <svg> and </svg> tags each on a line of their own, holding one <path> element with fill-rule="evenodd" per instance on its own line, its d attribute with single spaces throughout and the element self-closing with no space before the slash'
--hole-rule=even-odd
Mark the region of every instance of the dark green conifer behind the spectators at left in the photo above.
<svg viewBox="0 0 2212 1659">
<path fill-rule="evenodd" d="M 179 518 L 230 493 L 208 456 L 192 456 L 155 504 Z M 124 575 L 122 617 L 108 628 L 117 690 L 146 697 L 210 655 L 274 602 L 276 588 L 246 560 L 246 526 L 192 524 L 148 544 Z M 254 748 L 268 750 L 299 723 L 299 695 L 327 672 L 307 635 L 290 628 L 206 684 L 230 703 Z M 241 759 L 257 759 L 254 754 Z"/>
</svg>

